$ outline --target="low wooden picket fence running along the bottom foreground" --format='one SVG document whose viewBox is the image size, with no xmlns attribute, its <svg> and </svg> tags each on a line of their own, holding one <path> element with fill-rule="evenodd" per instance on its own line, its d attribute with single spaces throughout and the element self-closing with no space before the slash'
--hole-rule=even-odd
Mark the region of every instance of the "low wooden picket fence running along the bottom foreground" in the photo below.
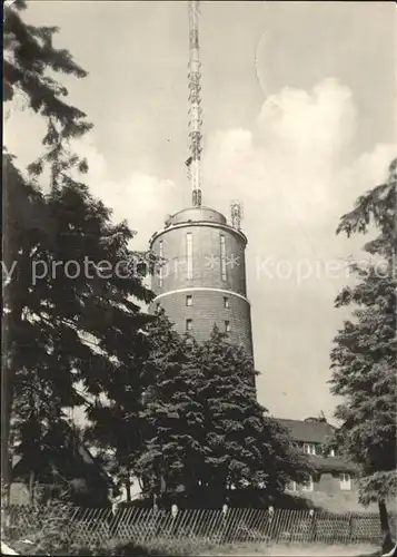
<svg viewBox="0 0 397 557">
<path fill-rule="evenodd" d="M 50 516 L 50 512 L 52 515 Z M 29 538 L 40 528 L 62 529 L 76 544 L 105 544 L 109 540 L 145 544 L 156 539 L 197 540 L 212 544 L 260 541 L 268 544 L 379 544 L 376 514 L 335 515 L 330 512 L 276 509 L 79 509 L 63 508 L 53 514 L 48 507 L 13 507 L 8 511 L 9 539 Z M 52 522 L 51 522 L 52 520 Z M 395 516 L 390 516 L 395 525 Z"/>
</svg>

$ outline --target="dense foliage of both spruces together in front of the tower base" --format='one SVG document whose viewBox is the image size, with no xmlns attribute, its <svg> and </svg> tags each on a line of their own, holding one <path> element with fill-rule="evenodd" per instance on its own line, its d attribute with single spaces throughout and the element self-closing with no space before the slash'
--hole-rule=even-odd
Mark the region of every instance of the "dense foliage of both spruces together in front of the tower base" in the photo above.
<svg viewBox="0 0 397 557">
<path fill-rule="evenodd" d="M 163 313 L 156 326 L 138 461 L 146 491 L 222 505 L 231 486 L 277 494 L 301 479 L 306 458 L 256 401 L 244 349 L 217 329 L 201 345 L 180 339 Z"/>
</svg>

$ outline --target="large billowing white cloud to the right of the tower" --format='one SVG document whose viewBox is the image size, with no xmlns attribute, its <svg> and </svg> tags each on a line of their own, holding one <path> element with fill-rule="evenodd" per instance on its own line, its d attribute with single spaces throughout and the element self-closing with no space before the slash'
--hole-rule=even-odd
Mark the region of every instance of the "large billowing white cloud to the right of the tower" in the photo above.
<svg viewBox="0 0 397 557">
<path fill-rule="evenodd" d="M 355 133 L 353 95 L 338 80 L 325 79 L 311 91 L 281 89 L 264 101 L 251 129 L 219 130 L 209 138 L 206 198 L 227 212 L 228 199 L 245 202 L 251 243 L 269 235 L 275 244 L 277 231 L 281 243 L 298 234 L 302 244 L 311 237 L 327 251 L 339 216 L 384 178 L 396 153 L 394 145 L 376 146 L 351 162 Z"/>
</svg>

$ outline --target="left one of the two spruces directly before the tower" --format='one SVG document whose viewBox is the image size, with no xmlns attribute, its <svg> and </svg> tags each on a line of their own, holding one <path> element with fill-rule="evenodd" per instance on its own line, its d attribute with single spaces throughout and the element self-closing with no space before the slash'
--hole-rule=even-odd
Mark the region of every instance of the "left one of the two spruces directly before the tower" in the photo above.
<svg viewBox="0 0 397 557">
<path fill-rule="evenodd" d="M 195 341 L 181 339 L 163 311 L 149 325 L 149 338 L 137 471 L 145 490 L 165 504 L 175 494 L 191 496 L 202 472 L 205 417 L 197 395 L 202 374 L 193 363 Z"/>
</svg>

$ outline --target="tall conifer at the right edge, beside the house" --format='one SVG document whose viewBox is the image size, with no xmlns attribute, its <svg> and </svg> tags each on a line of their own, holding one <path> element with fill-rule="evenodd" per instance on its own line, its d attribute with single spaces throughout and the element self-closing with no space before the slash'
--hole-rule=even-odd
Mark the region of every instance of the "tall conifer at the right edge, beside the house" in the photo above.
<svg viewBox="0 0 397 557">
<path fill-rule="evenodd" d="M 337 442 L 360 468 L 360 500 L 378 502 L 385 547 L 390 546 L 386 501 L 397 494 L 396 476 L 396 187 L 397 159 L 386 182 L 360 196 L 337 233 L 373 233 L 364 245 L 367 264 L 355 263 L 354 286 L 336 307 L 350 306 L 331 352 L 331 392 L 344 398 L 336 418 Z"/>
</svg>

